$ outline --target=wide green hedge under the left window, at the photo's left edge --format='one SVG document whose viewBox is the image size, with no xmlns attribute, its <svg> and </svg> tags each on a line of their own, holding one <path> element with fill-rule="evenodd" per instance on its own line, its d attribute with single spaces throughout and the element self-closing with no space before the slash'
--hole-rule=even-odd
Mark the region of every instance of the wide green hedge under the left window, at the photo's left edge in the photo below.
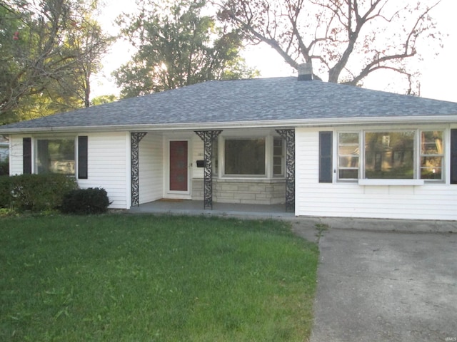
<svg viewBox="0 0 457 342">
<path fill-rule="evenodd" d="M 78 185 L 65 175 L 16 175 L 0 177 L 0 207 L 42 212 L 59 208 L 62 199 Z"/>
</svg>

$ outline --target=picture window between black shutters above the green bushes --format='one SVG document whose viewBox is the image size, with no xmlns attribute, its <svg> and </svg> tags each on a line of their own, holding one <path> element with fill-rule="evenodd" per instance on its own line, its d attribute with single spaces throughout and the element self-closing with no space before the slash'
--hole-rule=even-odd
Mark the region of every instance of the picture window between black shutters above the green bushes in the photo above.
<svg viewBox="0 0 457 342">
<path fill-rule="evenodd" d="M 36 173 L 75 174 L 75 140 L 36 140 Z"/>
</svg>

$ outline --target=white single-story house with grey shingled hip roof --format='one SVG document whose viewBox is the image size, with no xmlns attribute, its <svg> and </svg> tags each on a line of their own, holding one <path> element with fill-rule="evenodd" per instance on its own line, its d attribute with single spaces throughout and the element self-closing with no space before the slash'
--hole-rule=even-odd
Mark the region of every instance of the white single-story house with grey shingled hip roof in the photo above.
<svg viewBox="0 0 457 342">
<path fill-rule="evenodd" d="M 112 208 L 173 198 L 457 219 L 457 103 L 291 77 L 210 81 L 0 134 L 11 175 L 74 175 Z"/>
</svg>

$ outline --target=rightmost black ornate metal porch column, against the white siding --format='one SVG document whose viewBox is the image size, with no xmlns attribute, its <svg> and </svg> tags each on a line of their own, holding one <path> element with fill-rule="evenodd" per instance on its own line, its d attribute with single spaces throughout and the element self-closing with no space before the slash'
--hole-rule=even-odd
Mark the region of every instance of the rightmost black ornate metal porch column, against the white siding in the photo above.
<svg viewBox="0 0 457 342">
<path fill-rule="evenodd" d="M 286 140 L 286 212 L 295 210 L 295 130 L 276 130 Z"/>
</svg>

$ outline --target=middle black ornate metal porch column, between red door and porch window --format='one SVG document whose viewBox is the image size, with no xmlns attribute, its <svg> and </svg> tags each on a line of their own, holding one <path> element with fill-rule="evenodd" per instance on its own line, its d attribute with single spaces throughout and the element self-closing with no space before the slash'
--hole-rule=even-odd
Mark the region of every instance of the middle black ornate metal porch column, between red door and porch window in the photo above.
<svg viewBox="0 0 457 342">
<path fill-rule="evenodd" d="M 204 141 L 204 209 L 213 209 L 213 142 L 221 130 L 196 130 Z"/>
</svg>

